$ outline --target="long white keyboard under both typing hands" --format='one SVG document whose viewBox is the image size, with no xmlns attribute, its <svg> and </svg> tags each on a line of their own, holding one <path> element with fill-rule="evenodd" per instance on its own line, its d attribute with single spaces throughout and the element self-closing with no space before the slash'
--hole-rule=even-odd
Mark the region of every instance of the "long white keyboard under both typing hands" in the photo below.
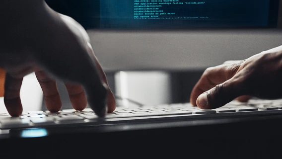
<svg viewBox="0 0 282 159">
<path fill-rule="evenodd" d="M 212 110 L 193 107 L 190 103 L 142 105 L 129 108 L 117 106 L 116 110 L 113 113 L 108 113 L 105 118 L 99 118 L 90 108 L 83 111 L 64 109 L 57 113 L 30 111 L 22 113 L 20 117 L 11 117 L 2 113 L 0 114 L 0 130 L 136 123 L 171 119 L 193 120 L 262 114 L 282 114 L 282 99 L 251 99 L 246 103 L 234 100 L 223 107 Z"/>
</svg>

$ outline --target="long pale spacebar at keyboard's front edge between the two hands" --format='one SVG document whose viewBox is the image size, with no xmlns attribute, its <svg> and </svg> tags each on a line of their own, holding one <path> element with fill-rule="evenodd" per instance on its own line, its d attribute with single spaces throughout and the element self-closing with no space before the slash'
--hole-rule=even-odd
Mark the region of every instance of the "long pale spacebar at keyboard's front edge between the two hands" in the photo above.
<svg viewBox="0 0 282 159">
<path fill-rule="evenodd" d="M 192 114 L 190 111 L 175 111 L 175 112 L 158 112 L 158 113 L 141 113 L 141 114 L 108 114 L 105 118 L 129 118 L 142 116 L 161 116 L 161 115 L 184 115 Z"/>
</svg>

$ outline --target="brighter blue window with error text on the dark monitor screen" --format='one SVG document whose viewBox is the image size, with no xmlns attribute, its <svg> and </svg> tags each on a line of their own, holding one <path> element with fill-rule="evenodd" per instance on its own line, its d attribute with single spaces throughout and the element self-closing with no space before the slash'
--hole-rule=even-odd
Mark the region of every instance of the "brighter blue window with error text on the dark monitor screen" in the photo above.
<svg viewBox="0 0 282 159">
<path fill-rule="evenodd" d="M 100 28 L 269 27 L 275 24 L 269 17 L 270 2 L 271 0 L 101 0 Z"/>
</svg>

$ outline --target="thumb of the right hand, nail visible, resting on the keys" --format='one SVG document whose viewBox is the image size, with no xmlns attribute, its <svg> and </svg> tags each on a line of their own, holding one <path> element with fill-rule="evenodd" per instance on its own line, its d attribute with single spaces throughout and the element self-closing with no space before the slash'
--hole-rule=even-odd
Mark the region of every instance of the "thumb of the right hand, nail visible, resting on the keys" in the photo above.
<svg viewBox="0 0 282 159">
<path fill-rule="evenodd" d="M 242 82 L 233 78 L 217 84 L 210 90 L 202 93 L 197 98 L 197 106 L 201 109 L 215 109 L 221 107 L 236 97 L 244 95 L 240 86 Z"/>
</svg>

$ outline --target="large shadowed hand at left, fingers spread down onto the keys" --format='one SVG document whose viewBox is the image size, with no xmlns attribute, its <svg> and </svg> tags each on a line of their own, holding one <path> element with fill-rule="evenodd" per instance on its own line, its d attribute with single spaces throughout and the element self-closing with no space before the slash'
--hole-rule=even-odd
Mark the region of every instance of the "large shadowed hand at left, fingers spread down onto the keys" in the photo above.
<svg viewBox="0 0 282 159">
<path fill-rule="evenodd" d="M 6 72 L 4 103 L 11 116 L 22 114 L 20 87 L 32 72 L 50 112 L 62 108 L 56 79 L 65 81 L 74 109 L 88 103 L 98 116 L 115 110 L 114 95 L 78 22 L 44 0 L 2 0 L 0 10 L 0 67 Z"/>
</svg>

